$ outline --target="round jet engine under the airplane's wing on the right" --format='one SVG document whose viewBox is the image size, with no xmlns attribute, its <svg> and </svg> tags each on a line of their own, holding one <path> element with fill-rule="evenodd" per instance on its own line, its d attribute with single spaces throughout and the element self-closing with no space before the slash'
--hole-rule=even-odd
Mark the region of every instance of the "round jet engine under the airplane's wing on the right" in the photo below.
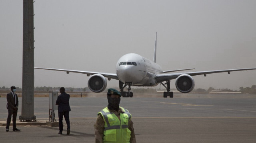
<svg viewBox="0 0 256 143">
<path fill-rule="evenodd" d="M 188 93 L 194 89 L 195 82 L 192 76 L 188 74 L 181 74 L 176 79 L 176 88 L 182 93 Z"/>
</svg>

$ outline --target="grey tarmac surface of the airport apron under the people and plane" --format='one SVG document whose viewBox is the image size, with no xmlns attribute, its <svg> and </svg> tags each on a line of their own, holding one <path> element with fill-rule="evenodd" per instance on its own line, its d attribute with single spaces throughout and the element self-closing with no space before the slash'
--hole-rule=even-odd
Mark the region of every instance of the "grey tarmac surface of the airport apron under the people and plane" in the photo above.
<svg viewBox="0 0 256 143">
<path fill-rule="evenodd" d="M 48 98 L 34 100 L 37 120 L 49 121 Z M 46 125 L 17 126 L 21 131 L 10 126 L 9 132 L 0 126 L 0 142 L 93 143 L 97 113 L 107 104 L 106 96 L 70 98 L 70 135 L 65 121 L 62 135 Z M 122 98 L 120 106 L 132 114 L 137 143 L 256 143 L 256 95 L 144 94 Z M 0 120 L 6 122 L 6 98 L 0 98 L 0 107 Z"/>
</svg>

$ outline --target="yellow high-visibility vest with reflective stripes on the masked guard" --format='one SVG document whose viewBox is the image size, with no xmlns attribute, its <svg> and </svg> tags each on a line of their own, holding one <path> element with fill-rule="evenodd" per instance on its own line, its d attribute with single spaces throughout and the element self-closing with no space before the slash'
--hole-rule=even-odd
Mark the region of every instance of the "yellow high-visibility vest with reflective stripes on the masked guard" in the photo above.
<svg viewBox="0 0 256 143">
<path fill-rule="evenodd" d="M 103 143 L 130 143 L 131 131 L 128 129 L 128 121 L 132 115 L 128 110 L 119 107 L 124 113 L 120 113 L 120 120 L 113 112 L 104 108 L 98 114 L 101 114 L 104 121 Z"/>
</svg>

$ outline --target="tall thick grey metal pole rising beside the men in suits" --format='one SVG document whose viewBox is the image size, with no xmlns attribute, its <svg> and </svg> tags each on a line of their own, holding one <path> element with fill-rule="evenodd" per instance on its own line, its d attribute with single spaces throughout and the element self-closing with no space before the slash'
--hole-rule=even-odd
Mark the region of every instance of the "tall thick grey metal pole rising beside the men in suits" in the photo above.
<svg viewBox="0 0 256 143">
<path fill-rule="evenodd" d="M 20 121 L 34 116 L 34 1 L 23 0 L 22 109 Z"/>
</svg>

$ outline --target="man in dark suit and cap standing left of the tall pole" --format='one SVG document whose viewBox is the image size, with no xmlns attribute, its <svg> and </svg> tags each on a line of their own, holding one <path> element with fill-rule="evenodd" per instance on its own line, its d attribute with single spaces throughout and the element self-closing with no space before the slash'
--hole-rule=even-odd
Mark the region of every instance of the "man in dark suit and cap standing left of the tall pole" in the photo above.
<svg viewBox="0 0 256 143">
<path fill-rule="evenodd" d="M 11 87 L 11 92 L 7 94 L 7 109 L 8 109 L 8 118 L 7 118 L 7 124 L 6 124 L 6 131 L 9 131 L 9 126 L 12 119 L 12 130 L 13 131 L 20 131 L 20 129 L 16 128 L 16 117 L 18 113 L 18 106 L 19 106 L 19 100 L 18 96 L 15 93 L 16 87 Z"/>
</svg>

